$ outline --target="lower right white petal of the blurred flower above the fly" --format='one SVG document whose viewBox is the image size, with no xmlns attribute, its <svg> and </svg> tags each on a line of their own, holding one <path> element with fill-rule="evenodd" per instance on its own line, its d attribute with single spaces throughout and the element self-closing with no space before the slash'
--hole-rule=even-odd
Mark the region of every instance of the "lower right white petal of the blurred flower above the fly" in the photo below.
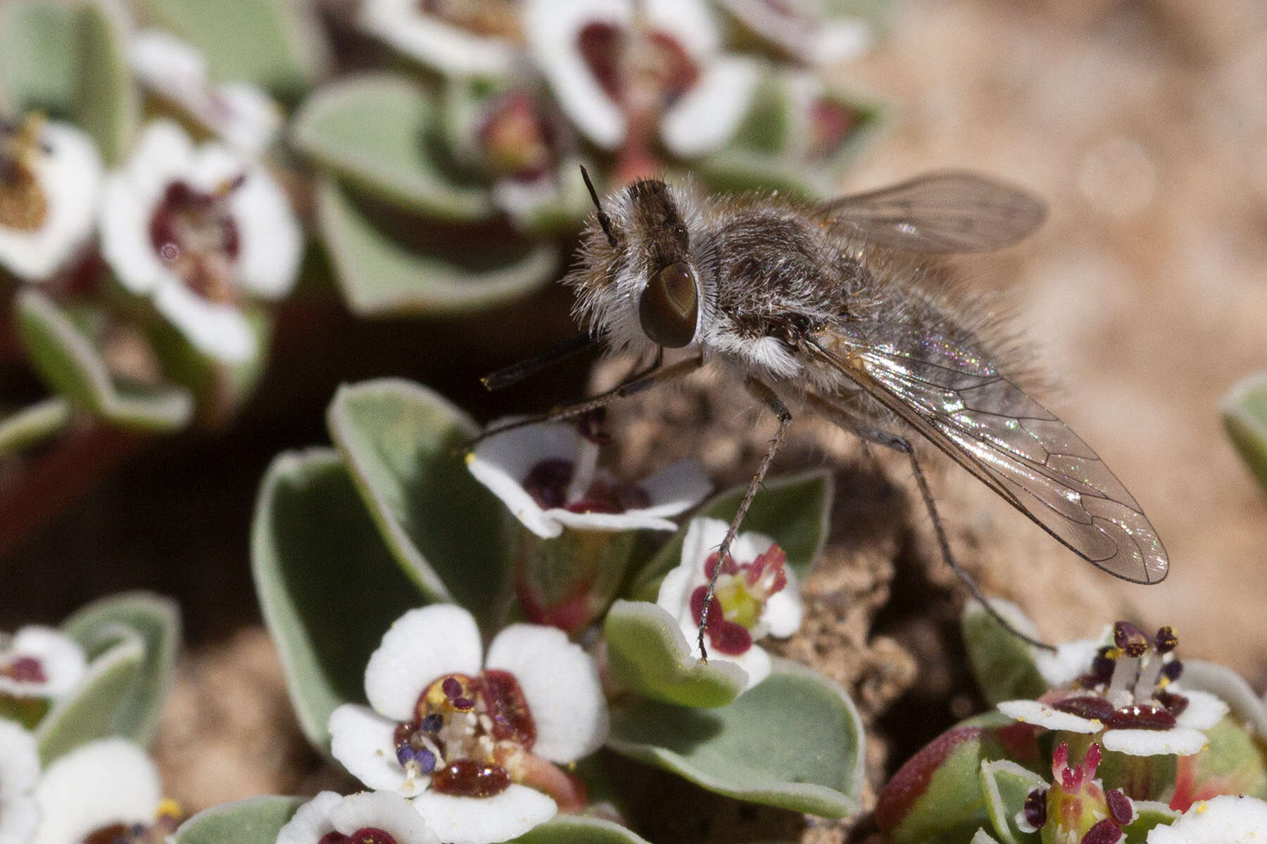
<svg viewBox="0 0 1267 844">
<path fill-rule="evenodd" d="M 760 66 L 726 56 L 710 65 L 660 121 L 660 139 L 680 158 L 694 158 L 726 146 L 753 105 Z"/>
</svg>

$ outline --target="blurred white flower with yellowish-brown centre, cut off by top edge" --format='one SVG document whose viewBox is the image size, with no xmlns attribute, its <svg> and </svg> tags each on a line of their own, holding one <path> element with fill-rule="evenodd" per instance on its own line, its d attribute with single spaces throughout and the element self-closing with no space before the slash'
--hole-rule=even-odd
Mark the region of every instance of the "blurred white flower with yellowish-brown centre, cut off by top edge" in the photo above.
<svg viewBox="0 0 1267 844">
<path fill-rule="evenodd" d="M 365 0 L 361 29 L 455 76 L 503 76 L 519 57 L 513 0 Z"/>
</svg>

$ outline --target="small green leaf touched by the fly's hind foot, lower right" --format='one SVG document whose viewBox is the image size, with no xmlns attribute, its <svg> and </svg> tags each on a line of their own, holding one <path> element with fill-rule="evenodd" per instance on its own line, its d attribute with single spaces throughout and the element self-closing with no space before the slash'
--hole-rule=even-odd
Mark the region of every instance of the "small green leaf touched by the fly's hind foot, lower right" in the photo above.
<svg viewBox="0 0 1267 844">
<path fill-rule="evenodd" d="M 1019 630 L 1036 635 L 1033 623 L 1016 605 L 992 600 L 991 606 Z M 972 601 L 964 606 L 959 629 L 972 673 L 987 704 L 1034 700 L 1047 692 L 1047 681 L 1039 673 L 1033 649 L 1003 629 L 981 604 Z"/>
</svg>

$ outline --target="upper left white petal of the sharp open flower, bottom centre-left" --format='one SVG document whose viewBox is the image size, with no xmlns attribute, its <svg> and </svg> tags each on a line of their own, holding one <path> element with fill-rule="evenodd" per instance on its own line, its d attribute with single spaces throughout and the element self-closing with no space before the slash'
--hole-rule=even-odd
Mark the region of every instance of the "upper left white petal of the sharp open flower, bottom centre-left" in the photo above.
<svg viewBox="0 0 1267 844">
<path fill-rule="evenodd" d="M 478 674 L 483 650 L 475 619 L 462 607 L 433 604 L 409 610 L 370 654 L 365 696 L 380 714 L 408 721 L 427 686 L 445 674 Z"/>
</svg>

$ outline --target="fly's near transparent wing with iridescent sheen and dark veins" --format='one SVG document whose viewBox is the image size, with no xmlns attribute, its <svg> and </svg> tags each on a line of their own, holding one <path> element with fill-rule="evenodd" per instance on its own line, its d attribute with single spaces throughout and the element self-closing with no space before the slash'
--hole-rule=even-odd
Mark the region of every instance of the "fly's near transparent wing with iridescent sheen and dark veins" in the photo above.
<svg viewBox="0 0 1267 844">
<path fill-rule="evenodd" d="M 811 352 L 1069 549 L 1138 583 L 1169 562 L 1148 518 L 1091 447 L 979 354 L 882 326 Z"/>
</svg>

